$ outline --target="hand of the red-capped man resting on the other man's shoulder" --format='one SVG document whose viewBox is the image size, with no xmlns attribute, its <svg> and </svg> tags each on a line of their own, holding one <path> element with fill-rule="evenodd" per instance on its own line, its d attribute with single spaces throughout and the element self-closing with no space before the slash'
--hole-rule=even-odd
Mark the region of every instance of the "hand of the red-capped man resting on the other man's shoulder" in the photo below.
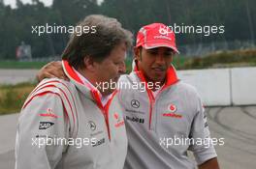
<svg viewBox="0 0 256 169">
<path fill-rule="evenodd" d="M 39 82 L 44 78 L 53 77 L 69 80 L 69 78 L 65 75 L 64 70 L 62 69 L 61 61 L 50 62 L 37 73 L 37 79 Z"/>
</svg>

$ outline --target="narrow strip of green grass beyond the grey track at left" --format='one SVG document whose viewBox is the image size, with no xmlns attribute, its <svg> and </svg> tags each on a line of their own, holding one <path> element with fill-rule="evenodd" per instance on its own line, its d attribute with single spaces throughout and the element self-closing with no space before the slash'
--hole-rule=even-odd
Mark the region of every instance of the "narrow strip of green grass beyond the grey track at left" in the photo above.
<svg viewBox="0 0 256 169">
<path fill-rule="evenodd" d="M 48 62 L 0 61 L 0 69 L 41 69 Z"/>
</svg>

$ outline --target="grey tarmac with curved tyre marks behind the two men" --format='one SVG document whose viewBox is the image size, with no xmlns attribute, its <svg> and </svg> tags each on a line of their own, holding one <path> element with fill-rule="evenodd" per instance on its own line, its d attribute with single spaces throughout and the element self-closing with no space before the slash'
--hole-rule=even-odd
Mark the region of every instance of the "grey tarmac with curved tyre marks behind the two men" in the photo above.
<svg viewBox="0 0 256 169">
<path fill-rule="evenodd" d="M 212 138 L 224 138 L 215 146 L 221 169 L 255 169 L 256 106 L 208 107 Z M 0 116 L 0 168 L 15 168 L 15 139 L 18 115 Z"/>
</svg>

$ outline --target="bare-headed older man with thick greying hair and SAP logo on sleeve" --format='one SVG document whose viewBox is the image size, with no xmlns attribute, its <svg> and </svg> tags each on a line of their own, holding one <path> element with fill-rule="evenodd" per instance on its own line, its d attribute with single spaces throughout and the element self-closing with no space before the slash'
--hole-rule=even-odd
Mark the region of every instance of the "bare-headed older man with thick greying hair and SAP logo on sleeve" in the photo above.
<svg viewBox="0 0 256 169">
<path fill-rule="evenodd" d="M 63 52 L 70 81 L 43 80 L 26 99 L 16 133 L 16 169 L 122 169 L 127 137 L 116 92 L 132 34 L 114 18 L 89 15 Z"/>
</svg>

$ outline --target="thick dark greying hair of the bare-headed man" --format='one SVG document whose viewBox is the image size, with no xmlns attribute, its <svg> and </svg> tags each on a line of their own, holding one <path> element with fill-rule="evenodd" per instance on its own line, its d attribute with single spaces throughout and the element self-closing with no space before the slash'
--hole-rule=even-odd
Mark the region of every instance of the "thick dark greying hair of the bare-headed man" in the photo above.
<svg viewBox="0 0 256 169">
<path fill-rule="evenodd" d="M 132 33 L 122 28 L 115 18 L 92 14 L 86 16 L 77 26 L 95 27 L 94 33 L 80 34 L 75 31 L 62 54 L 62 59 L 67 60 L 77 70 L 83 67 L 83 59 L 86 56 L 95 62 L 101 62 L 110 55 L 117 44 L 124 42 L 127 48 L 132 46 Z"/>
</svg>

